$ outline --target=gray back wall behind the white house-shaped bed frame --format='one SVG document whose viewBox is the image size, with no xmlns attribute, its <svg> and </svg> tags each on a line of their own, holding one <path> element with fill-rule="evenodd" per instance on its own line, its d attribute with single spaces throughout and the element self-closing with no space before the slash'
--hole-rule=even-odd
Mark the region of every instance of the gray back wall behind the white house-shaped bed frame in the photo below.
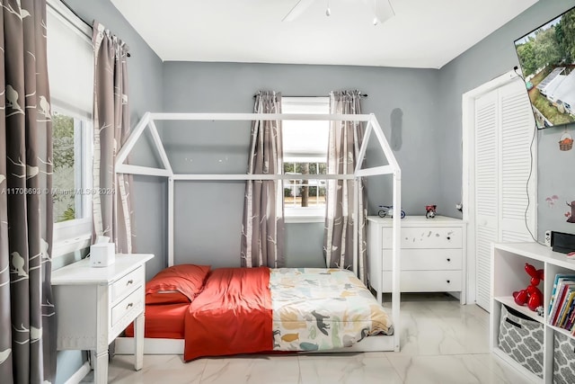
<svg viewBox="0 0 575 384">
<path fill-rule="evenodd" d="M 252 112 L 258 90 L 315 96 L 359 89 L 368 94 L 364 112 L 376 114 L 388 138 L 392 112 L 403 112 L 403 144 L 395 155 L 403 169 L 404 210 L 424 214 L 424 206 L 439 199 L 438 157 L 432 144 L 438 123 L 438 70 L 166 62 L 164 86 L 165 112 Z M 174 170 L 231 174 L 245 172 L 249 133 L 246 122 L 180 122 L 164 124 L 163 138 Z M 384 164 L 373 145 L 367 162 Z M 391 177 L 368 180 L 370 213 L 378 204 L 392 203 L 390 185 Z M 239 265 L 243 183 L 185 183 L 176 194 L 176 262 Z M 323 265 L 323 223 L 288 224 L 286 237 L 289 265 Z"/>
</svg>

